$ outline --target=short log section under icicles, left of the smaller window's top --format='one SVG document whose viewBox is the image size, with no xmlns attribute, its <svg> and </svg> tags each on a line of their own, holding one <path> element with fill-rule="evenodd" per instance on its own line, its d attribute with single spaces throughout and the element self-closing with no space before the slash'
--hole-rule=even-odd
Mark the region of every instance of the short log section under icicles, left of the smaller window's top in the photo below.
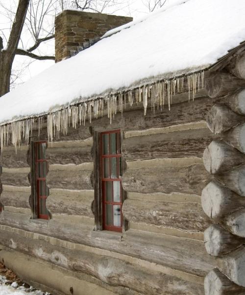
<svg viewBox="0 0 245 295">
<path fill-rule="evenodd" d="M 29 167 L 28 163 L 29 146 L 3 148 L 1 152 L 1 166 L 7 168 Z"/>
</svg>

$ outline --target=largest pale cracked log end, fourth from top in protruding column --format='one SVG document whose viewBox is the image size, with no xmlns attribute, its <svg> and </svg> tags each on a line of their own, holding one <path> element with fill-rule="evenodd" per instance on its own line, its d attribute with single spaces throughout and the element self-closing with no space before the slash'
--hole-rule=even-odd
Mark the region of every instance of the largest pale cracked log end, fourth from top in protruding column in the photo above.
<svg viewBox="0 0 245 295">
<path fill-rule="evenodd" d="M 245 199 L 219 182 L 211 181 L 202 190 L 201 204 L 208 217 L 222 218 L 231 212 L 243 209 Z"/>
</svg>

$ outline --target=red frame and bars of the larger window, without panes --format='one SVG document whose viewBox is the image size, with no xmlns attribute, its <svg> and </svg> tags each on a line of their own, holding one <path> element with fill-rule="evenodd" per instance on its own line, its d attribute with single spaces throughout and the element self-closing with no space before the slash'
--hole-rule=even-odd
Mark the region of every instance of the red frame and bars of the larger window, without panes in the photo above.
<svg viewBox="0 0 245 295">
<path fill-rule="evenodd" d="M 115 134 L 115 133 L 117 134 L 116 135 L 116 153 L 112 154 L 111 153 L 111 134 Z M 108 137 L 109 137 L 109 143 L 108 143 L 109 153 L 107 154 L 105 154 L 103 151 L 103 145 L 104 145 L 103 135 L 105 134 L 108 134 Z M 109 177 L 104 177 L 104 159 L 106 158 L 109 158 Z M 117 167 L 116 167 L 117 177 L 115 178 L 112 177 L 112 158 L 117 159 Z M 122 214 L 123 187 L 122 187 L 122 154 L 121 154 L 121 130 L 120 129 L 105 131 L 100 133 L 100 167 L 101 167 L 100 173 L 101 173 L 101 191 L 102 191 L 102 229 L 122 233 L 123 231 L 123 214 Z M 112 201 L 107 200 L 106 188 L 107 188 L 108 181 L 112 182 L 112 185 L 110 185 Z M 120 181 L 120 202 L 114 201 L 114 182 L 115 181 Z M 107 205 L 112 205 L 112 206 L 108 206 L 108 207 L 111 207 L 112 225 L 109 225 L 106 222 Z M 114 207 L 118 208 L 118 206 L 120 206 L 120 215 L 121 215 L 120 226 L 115 226 L 114 225 L 114 216 L 115 216 Z"/>
</svg>

